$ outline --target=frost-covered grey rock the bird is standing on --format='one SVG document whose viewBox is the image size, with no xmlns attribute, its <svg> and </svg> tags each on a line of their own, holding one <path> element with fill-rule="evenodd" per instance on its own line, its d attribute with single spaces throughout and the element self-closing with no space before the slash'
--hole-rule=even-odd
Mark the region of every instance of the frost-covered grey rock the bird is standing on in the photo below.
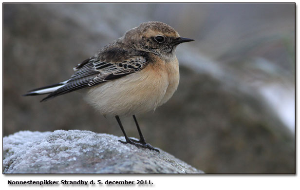
<svg viewBox="0 0 300 190">
<path fill-rule="evenodd" d="M 90 131 L 20 131 L 3 137 L 3 173 L 203 173 L 167 152 Z"/>
</svg>

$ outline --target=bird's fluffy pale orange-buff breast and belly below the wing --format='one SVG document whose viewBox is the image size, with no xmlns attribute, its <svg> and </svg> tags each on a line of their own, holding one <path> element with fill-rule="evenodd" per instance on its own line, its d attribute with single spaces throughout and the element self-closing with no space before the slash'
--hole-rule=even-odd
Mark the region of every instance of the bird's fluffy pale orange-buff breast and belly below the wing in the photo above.
<svg viewBox="0 0 300 190">
<path fill-rule="evenodd" d="M 149 63 L 143 70 L 91 88 L 86 100 L 104 115 L 133 115 L 167 102 L 179 83 L 177 58 Z"/>
</svg>

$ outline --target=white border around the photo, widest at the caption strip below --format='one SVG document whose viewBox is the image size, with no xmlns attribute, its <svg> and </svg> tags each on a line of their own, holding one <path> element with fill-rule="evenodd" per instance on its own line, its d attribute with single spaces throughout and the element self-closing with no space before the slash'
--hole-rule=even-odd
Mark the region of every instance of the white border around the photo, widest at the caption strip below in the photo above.
<svg viewBox="0 0 300 190">
<path fill-rule="evenodd" d="M 99 2 L 97 0 L 88 0 L 89 2 Z M 27 2 L 25 0 L 18 0 L 18 1 L 1 1 L 1 2 Z M 38 2 L 36 0 L 31 0 L 30 2 Z M 44 1 L 44 2 L 60 2 L 60 0 L 53 0 L 53 1 Z M 64 2 L 81 2 L 78 0 L 64 0 Z M 105 2 L 121 2 L 121 1 L 112 1 L 106 0 Z M 140 2 L 136 0 L 132 0 L 131 2 Z M 147 2 L 159 2 L 154 0 L 149 0 Z M 164 2 L 172 2 L 170 0 L 166 0 Z M 190 0 L 188 2 L 196 2 Z M 226 2 L 226 1 L 216 1 L 211 0 L 209 2 Z M 236 1 L 232 0 L 231 2 L 243 2 L 243 1 Z M 249 2 L 249 1 L 244 1 Z M 255 1 L 253 1 L 255 2 Z M 273 0 L 273 1 L 256 1 L 256 2 L 282 2 L 282 0 Z M 292 1 L 289 1 L 292 2 Z M 298 5 L 298 1 L 296 1 L 296 7 Z M 296 8 L 296 15 L 297 15 L 297 25 L 299 20 L 299 14 L 297 14 Z M 2 6 L 1 6 L 1 17 L 2 17 Z M 2 19 L 1 19 L 2 25 Z M 297 26 L 296 25 L 296 26 Z M 297 32 L 297 34 L 299 34 Z M 2 30 L 1 30 L 2 35 Z M 298 36 L 298 35 L 297 35 Z M 2 38 L 1 38 L 2 41 Z M 1 46 L 2 47 L 2 46 Z M 0 60 L 2 60 L 2 51 Z M 299 55 L 299 48 L 297 48 L 297 55 Z M 3 64 L 3 63 L 2 63 Z M 0 80 L 2 82 L 2 67 L 1 69 L 1 77 Z M 299 73 L 299 67 L 297 67 L 297 73 Z M 299 84 L 299 77 L 297 78 L 297 84 Z M 297 87 L 298 89 L 298 87 Z M 2 102 L 2 88 L 1 88 L 1 105 L 3 107 Z M 299 93 L 297 92 L 297 100 L 299 100 Z M 299 101 L 298 101 L 299 102 Z M 297 102 L 297 107 L 298 107 Z M 297 118 L 299 118 L 299 112 L 297 113 Z M 2 120 L 2 114 L 1 114 Z M 1 122 L 2 123 L 2 122 Z M 296 123 L 297 125 L 297 123 Z M 299 130 L 296 131 L 297 136 L 299 136 Z M 2 133 L 2 132 L 1 132 Z M 297 146 L 297 153 L 299 152 L 299 146 Z M 299 157 L 297 157 L 297 163 L 299 163 Z M 297 166 L 297 165 L 296 165 Z M 298 170 L 297 170 L 298 171 Z M 37 189 L 41 188 L 40 186 L 8 186 L 7 180 L 70 180 L 76 181 L 79 179 L 82 180 L 151 180 L 153 181 L 153 186 L 89 186 L 89 187 L 81 187 L 81 186 L 44 186 L 43 188 L 72 188 L 72 189 L 82 189 L 82 188 L 110 188 L 120 189 L 120 188 L 138 188 L 138 189 L 205 189 L 205 190 L 285 190 L 285 189 L 299 189 L 300 187 L 300 179 L 299 175 L 1 175 L 0 177 L 0 187 L 2 190 L 6 189 Z"/>
</svg>

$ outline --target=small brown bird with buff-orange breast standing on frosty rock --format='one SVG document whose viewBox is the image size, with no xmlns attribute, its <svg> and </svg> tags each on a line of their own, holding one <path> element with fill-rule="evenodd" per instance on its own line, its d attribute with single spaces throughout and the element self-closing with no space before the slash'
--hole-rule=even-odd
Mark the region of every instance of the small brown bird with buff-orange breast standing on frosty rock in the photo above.
<svg viewBox="0 0 300 190">
<path fill-rule="evenodd" d="M 33 89 L 24 96 L 48 94 L 43 102 L 84 91 L 84 99 L 97 111 L 115 117 L 125 137 L 120 142 L 159 152 L 146 142 L 135 115 L 155 111 L 174 94 L 179 84 L 175 49 L 189 41 L 194 39 L 179 36 L 166 23 L 144 22 L 75 66 L 68 80 Z M 127 136 L 119 118 L 131 115 L 139 140 Z"/>
</svg>

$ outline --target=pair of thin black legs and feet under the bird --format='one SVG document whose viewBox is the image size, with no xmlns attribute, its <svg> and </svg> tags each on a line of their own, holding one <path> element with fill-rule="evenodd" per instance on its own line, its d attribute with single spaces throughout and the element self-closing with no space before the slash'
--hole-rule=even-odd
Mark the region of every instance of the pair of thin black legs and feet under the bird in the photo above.
<svg viewBox="0 0 300 190">
<path fill-rule="evenodd" d="M 129 143 L 129 144 L 135 145 L 136 147 L 147 148 L 147 149 L 150 149 L 150 150 L 154 150 L 154 151 L 156 151 L 156 152 L 159 152 L 159 150 L 154 149 L 150 144 L 147 144 L 147 143 L 146 143 L 145 138 L 144 138 L 144 136 L 143 136 L 143 134 L 142 134 L 142 132 L 141 132 L 141 130 L 140 130 L 140 127 L 139 127 L 139 125 L 138 125 L 138 123 L 137 123 L 137 120 L 136 120 L 136 118 L 135 118 L 134 115 L 133 115 L 133 119 L 134 119 L 134 122 L 135 122 L 135 124 L 136 124 L 136 128 L 137 128 L 137 130 L 138 130 L 138 133 L 139 133 L 139 135 L 140 135 L 140 140 L 138 140 L 138 141 L 137 141 L 137 140 L 134 140 L 134 139 L 132 139 L 132 138 L 128 138 L 128 136 L 127 136 L 127 134 L 126 134 L 126 132 L 125 132 L 125 130 L 124 130 L 124 128 L 123 128 L 123 125 L 122 125 L 122 123 L 121 123 L 121 120 L 120 120 L 119 116 L 116 115 L 115 118 L 116 118 L 117 122 L 119 123 L 119 126 L 120 126 L 120 128 L 121 128 L 121 130 L 122 130 L 122 132 L 123 132 L 123 134 L 124 134 L 125 140 L 126 140 L 126 141 L 121 141 L 121 140 L 119 140 L 121 143 L 124 143 L 124 144 Z"/>
</svg>

